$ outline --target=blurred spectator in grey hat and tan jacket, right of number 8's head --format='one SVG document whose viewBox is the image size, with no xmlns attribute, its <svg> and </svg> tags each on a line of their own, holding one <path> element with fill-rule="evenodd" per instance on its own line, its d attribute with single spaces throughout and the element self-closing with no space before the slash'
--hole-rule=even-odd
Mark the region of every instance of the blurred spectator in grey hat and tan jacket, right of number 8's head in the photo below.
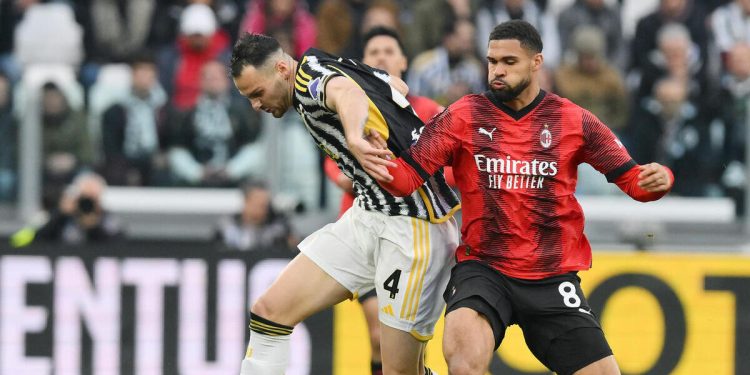
<svg viewBox="0 0 750 375">
<path fill-rule="evenodd" d="M 589 109 L 622 134 L 630 99 L 620 72 L 607 61 L 604 33 L 596 26 L 583 25 L 574 32 L 571 44 L 574 61 L 555 71 L 557 94 Z"/>
</svg>

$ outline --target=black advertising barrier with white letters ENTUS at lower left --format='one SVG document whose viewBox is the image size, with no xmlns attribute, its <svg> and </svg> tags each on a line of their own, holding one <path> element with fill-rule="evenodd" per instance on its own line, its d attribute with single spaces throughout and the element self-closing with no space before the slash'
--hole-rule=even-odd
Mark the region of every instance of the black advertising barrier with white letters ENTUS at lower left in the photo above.
<svg viewBox="0 0 750 375">
<path fill-rule="evenodd" d="M 196 242 L 4 251 L 0 375 L 239 373 L 249 299 L 293 256 Z M 331 374 L 332 337 L 331 309 L 298 325 L 288 374 Z"/>
</svg>

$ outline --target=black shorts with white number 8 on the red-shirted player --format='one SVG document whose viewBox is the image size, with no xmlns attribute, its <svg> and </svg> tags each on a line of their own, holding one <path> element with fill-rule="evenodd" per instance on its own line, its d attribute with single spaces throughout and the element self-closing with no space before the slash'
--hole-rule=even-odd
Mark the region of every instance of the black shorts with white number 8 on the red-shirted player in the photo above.
<svg viewBox="0 0 750 375">
<path fill-rule="evenodd" d="M 532 354 L 558 374 L 572 374 L 612 355 L 575 272 L 522 280 L 477 261 L 462 262 L 451 270 L 443 298 L 446 314 L 468 307 L 484 315 L 495 350 L 505 329 L 518 324 Z"/>
</svg>

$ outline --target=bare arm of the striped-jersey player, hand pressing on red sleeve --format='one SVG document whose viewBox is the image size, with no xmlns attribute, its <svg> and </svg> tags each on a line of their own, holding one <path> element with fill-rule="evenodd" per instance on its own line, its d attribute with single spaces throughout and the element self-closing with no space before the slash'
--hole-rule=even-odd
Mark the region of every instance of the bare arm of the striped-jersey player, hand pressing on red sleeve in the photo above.
<svg viewBox="0 0 750 375">
<path fill-rule="evenodd" d="M 389 181 L 388 166 L 395 166 L 384 157 L 392 155 L 386 149 L 377 149 L 363 138 L 368 116 L 365 92 L 349 78 L 332 78 L 325 87 L 326 105 L 338 113 L 344 126 L 344 135 L 352 155 L 362 168 L 376 180 Z"/>
</svg>

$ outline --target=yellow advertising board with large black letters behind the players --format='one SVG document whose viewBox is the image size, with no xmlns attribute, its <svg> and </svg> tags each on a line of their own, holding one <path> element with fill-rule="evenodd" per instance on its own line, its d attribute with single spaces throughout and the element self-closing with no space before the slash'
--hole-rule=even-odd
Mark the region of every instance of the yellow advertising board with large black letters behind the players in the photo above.
<svg viewBox="0 0 750 375">
<path fill-rule="evenodd" d="M 596 252 L 594 267 L 580 276 L 624 374 L 732 375 L 750 368 L 750 256 Z M 339 304 L 334 317 L 334 374 L 369 374 L 359 304 Z M 442 328 L 441 320 L 427 364 L 447 375 Z M 508 330 L 490 372 L 549 373 L 518 326 Z"/>
</svg>

